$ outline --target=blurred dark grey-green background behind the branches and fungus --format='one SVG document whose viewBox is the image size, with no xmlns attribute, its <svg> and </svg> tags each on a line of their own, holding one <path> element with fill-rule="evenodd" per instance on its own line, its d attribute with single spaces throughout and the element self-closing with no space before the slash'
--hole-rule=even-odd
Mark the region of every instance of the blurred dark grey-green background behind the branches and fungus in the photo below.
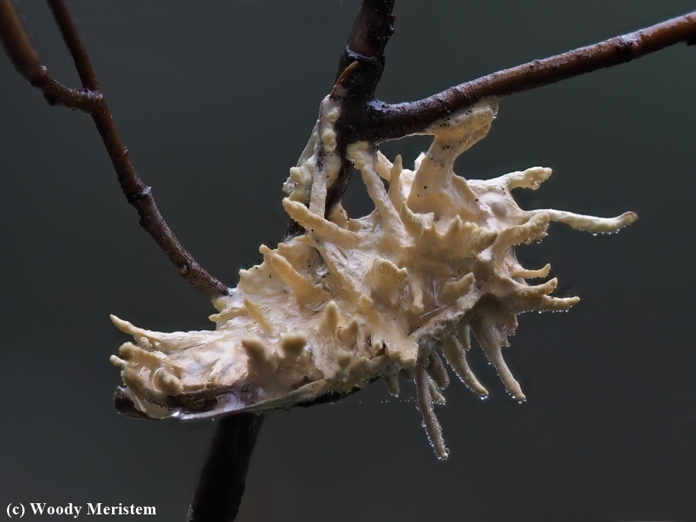
<svg viewBox="0 0 696 522">
<path fill-rule="evenodd" d="M 164 216 L 230 285 L 287 217 L 280 187 L 331 90 L 357 0 L 77 1 L 71 7 L 130 155 Z M 378 95 L 414 100 L 500 68 L 694 9 L 692 1 L 397 0 Z M 20 1 L 42 61 L 77 86 L 45 5 Z M 696 520 L 693 203 L 696 47 L 516 95 L 458 163 L 468 177 L 555 174 L 523 207 L 614 216 L 619 235 L 552 225 L 519 248 L 551 262 L 567 314 L 523 315 L 506 356 L 520 406 L 477 352 L 481 402 L 439 409 L 450 459 L 413 388 L 268 416 L 240 521 Z M 426 139 L 388 143 L 412 161 Z M 0 56 L 0 500 L 154 505 L 183 520 L 212 422 L 116 415 L 116 313 L 164 331 L 212 307 L 139 229 L 90 118 L 45 104 Z M 361 183 L 347 202 L 370 209 Z M 4 516 L 4 515 L 3 515 Z M 29 516 L 29 519 L 32 517 Z M 58 519 L 59 517 L 56 517 Z"/>
</svg>

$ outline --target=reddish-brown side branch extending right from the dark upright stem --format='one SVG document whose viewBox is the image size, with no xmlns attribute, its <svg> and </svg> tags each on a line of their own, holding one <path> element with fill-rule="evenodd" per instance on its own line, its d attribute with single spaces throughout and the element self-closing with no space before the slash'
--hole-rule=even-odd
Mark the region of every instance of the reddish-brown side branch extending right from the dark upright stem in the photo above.
<svg viewBox="0 0 696 522">
<path fill-rule="evenodd" d="M 695 40 L 696 11 L 551 58 L 494 72 L 418 102 L 374 102 L 365 120 L 375 124 L 368 123 L 370 128 L 365 128 L 365 136 L 379 143 L 417 134 L 448 114 L 462 111 L 484 98 L 555 84 L 586 72 L 627 63 L 679 42 Z"/>
</svg>

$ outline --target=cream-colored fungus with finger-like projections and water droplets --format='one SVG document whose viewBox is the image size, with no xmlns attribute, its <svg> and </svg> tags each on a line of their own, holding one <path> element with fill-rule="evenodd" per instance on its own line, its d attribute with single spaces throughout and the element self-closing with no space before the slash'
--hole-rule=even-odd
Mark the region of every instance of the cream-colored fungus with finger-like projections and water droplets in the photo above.
<svg viewBox="0 0 696 522">
<path fill-rule="evenodd" d="M 333 128 L 340 104 L 324 100 L 283 187 L 285 211 L 306 232 L 260 247 L 263 262 L 240 271 L 237 287 L 214 301 L 214 331 L 159 333 L 113 317 L 136 341 L 111 357 L 122 368 L 120 393 L 151 418 L 200 418 L 292 406 L 379 378 L 398 393 L 398 379 L 413 379 L 427 435 L 444 459 L 433 409 L 449 382 L 441 356 L 470 390 L 488 393 L 466 361 L 473 332 L 508 393 L 525 400 L 502 354 L 517 315 L 567 310 L 578 298 L 551 296 L 555 278 L 530 285 L 550 266 L 525 269 L 514 247 L 545 237 L 550 221 L 614 232 L 636 216 L 518 207 L 512 189 L 537 189 L 549 168 L 493 180 L 455 175 L 454 160 L 486 136 L 496 111 L 496 102 L 484 102 L 428 129 L 434 141 L 414 171 L 400 157 L 392 164 L 369 143 L 352 143 L 347 156 L 375 209 L 348 219 L 339 205 L 324 219 L 340 167 Z"/>
</svg>

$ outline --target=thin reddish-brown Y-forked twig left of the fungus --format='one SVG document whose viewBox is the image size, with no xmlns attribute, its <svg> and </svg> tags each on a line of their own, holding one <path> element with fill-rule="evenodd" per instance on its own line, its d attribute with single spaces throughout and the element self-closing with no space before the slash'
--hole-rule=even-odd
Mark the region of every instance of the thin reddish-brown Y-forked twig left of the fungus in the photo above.
<svg viewBox="0 0 696 522">
<path fill-rule="evenodd" d="M 63 105 L 89 113 L 102 136 L 104 147 L 126 199 L 138 211 L 141 226 L 155 239 L 169 260 L 179 269 L 181 276 L 208 299 L 228 294 L 228 287 L 200 267 L 167 226 L 157 209 L 155 199 L 152 198 L 150 187 L 140 180 L 128 157 L 128 151 L 113 123 L 109 106 L 99 90 L 94 69 L 68 8 L 62 0 L 49 0 L 49 6 L 65 45 L 70 50 L 83 88 L 70 89 L 53 79 L 47 68 L 41 65 L 11 0 L 0 0 L 0 40 L 10 61 L 22 77 L 42 91 L 49 104 Z"/>
</svg>

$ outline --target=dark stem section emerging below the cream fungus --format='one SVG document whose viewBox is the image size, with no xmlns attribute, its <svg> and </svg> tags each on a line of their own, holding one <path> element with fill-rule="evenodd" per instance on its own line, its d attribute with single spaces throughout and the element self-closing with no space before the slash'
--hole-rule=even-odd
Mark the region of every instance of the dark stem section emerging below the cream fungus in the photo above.
<svg viewBox="0 0 696 522">
<path fill-rule="evenodd" d="M 239 413 L 218 421 L 189 507 L 189 522 L 235 520 L 263 416 Z"/>
</svg>

